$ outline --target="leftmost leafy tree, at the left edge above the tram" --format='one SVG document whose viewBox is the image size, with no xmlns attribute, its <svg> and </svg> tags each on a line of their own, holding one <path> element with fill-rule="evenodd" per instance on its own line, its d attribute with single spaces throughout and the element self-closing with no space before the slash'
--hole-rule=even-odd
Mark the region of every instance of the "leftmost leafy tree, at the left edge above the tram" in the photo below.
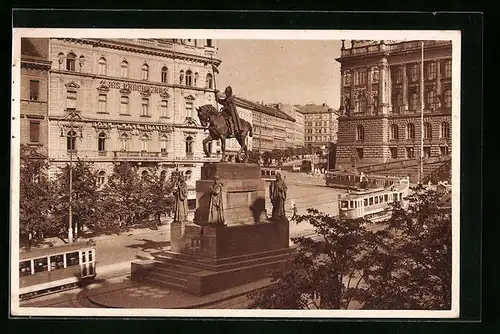
<svg viewBox="0 0 500 334">
<path fill-rule="evenodd" d="M 20 244 L 31 247 L 57 229 L 51 215 L 54 190 L 46 157 L 21 145 L 19 176 Z"/>
</svg>

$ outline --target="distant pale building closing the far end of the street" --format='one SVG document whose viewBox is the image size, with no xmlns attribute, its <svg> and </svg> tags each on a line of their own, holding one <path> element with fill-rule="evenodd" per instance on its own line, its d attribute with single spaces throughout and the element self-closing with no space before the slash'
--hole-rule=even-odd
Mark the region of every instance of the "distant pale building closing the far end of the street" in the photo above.
<svg viewBox="0 0 500 334">
<path fill-rule="evenodd" d="M 306 147 L 321 148 L 337 141 L 338 112 L 326 105 L 306 104 L 299 107 L 304 114 L 304 143 Z"/>
</svg>

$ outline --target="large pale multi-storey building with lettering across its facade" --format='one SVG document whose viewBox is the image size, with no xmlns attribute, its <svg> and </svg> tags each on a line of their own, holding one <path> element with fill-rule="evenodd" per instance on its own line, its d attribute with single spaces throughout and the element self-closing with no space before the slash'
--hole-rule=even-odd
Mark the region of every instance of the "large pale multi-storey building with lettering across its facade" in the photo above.
<svg viewBox="0 0 500 334">
<path fill-rule="evenodd" d="M 190 197 L 206 161 L 196 107 L 215 106 L 216 41 L 51 38 L 49 158 L 94 162 L 106 179 L 123 161 L 188 176 Z M 77 117 L 67 118 L 68 112 Z"/>
</svg>

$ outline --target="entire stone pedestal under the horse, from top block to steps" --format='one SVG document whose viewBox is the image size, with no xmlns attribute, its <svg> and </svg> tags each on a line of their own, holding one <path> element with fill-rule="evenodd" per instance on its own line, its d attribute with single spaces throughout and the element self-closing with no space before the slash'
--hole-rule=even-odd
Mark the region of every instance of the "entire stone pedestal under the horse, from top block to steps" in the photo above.
<svg viewBox="0 0 500 334">
<path fill-rule="evenodd" d="M 209 200 L 204 196 L 214 175 L 223 183 L 224 225 L 206 224 Z M 294 253 L 289 222 L 271 222 L 263 215 L 265 183 L 260 175 L 260 167 L 253 164 L 205 164 L 196 183 L 195 223 L 172 223 L 171 250 L 154 253 L 154 266 L 138 268 L 141 264 L 134 263 L 132 279 L 202 296 L 282 268 Z"/>
</svg>

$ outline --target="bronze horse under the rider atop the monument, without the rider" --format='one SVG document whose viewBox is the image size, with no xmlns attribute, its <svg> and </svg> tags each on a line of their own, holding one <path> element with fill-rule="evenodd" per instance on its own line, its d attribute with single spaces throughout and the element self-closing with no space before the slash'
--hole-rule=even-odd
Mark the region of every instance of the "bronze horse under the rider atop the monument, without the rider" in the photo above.
<svg viewBox="0 0 500 334">
<path fill-rule="evenodd" d="M 219 139 L 221 141 L 222 148 L 221 161 L 226 161 L 226 139 L 233 138 L 231 129 L 226 123 L 226 119 L 224 118 L 222 113 L 218 112 L 217 109 L 211 104 L 206 104 L 204 106 L 196 108 L 196 111 L 198 112 L 198 118 L 200 119 L 201 125 L 208 125 L 209 135 L 207 138 L 203 139 L 203 152 L 205 152 L 205 155 L 207 157 L 210 157 L 210 152 L 208 151 L 208 143 L 212 142 L 213 140 Z M 241 132 L 239 134 L 236 134 L 235 136 L 241 147 L 238 151 L 238 157 L 241 159 L 241 153 L 244 152 L 245 155 L 243 160 L 245 162 L 248 162 L 248 148 L 246 145 L 246 138 L 247 135 L 250 137 L 253 136 L 252 125 L 244 119 L 240 120 Z"/>
</svg>

